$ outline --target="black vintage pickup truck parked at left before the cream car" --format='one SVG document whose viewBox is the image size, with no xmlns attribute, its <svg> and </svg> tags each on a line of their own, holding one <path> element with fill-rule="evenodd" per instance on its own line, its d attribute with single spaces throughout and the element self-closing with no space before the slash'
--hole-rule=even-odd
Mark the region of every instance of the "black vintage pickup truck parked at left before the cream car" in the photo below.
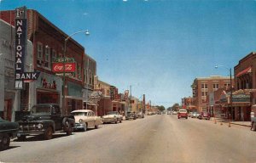
<svg viewBox="0 0 256 163">
<path fill-rule="evenodd" d="M 58 104 L 36 104 L 32 107 L 30 115 L 25 115 L 18 122 L 20 130 L 17 138 L 20 141 L 29 135 L 42 135 L 46 140 L 51 139 L 55 132 L 66 132 L 67 135 L 71 135 L 75 124 L 72 115 L 61 115 Z"/>
</svg>

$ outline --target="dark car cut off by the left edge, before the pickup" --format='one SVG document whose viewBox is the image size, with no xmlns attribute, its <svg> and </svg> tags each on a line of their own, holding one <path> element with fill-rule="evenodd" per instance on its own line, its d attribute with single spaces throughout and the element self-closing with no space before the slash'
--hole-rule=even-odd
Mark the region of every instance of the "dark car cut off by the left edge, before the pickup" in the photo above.
<svg viewBox="0 0 256 163">
<path fill-rule="evenodd" d="M 0 150 L 8 149 L 10 138 L 15 138 L 19 131 L 19 124 L 0 118 Z"/>
</svg>

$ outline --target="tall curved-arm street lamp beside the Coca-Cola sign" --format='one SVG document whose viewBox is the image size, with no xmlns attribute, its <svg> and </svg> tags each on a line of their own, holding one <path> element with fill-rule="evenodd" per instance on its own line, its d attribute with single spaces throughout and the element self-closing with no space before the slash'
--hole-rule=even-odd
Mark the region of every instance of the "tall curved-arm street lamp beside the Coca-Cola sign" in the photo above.
<svg viewBox="0 0 256 163">
<path fill-rule="evenodd" d="M 67 87 L 66 86 L 66 51 L 67 51 L 67 41 L 70 37 L 72 37 L 73 35 L 76 35 L 76 34 L 79 34 L 79 33 L 84 33 L 86 36 L 89 36 L 90 33 L 88 30 L 84 30 L 84 31 L 77 31 L 77 32 L 74 32 L 73 34 L 69 35 L 67 38 L 65 38 L 65 42 L 64 42 L 64 53 L 63 53 L 63 85 L 62 85 L 62 108 L 63 108 L 63 112 L 66 113 L 67 115 L 67 110 L 66 110 L 66 107 L 65 107 L 65 88 Z"/>
</svg>

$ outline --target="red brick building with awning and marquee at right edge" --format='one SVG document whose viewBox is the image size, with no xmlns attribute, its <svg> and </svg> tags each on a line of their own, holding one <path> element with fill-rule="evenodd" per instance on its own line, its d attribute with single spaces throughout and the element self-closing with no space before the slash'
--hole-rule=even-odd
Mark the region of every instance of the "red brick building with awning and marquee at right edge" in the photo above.
<svg viewBox="0 0 256 163">
<path fill-rule="evenodd" d="M 236 121 L 250 121 L 251 106 L 256 104 L 256 53 L 247 54 L 234 68 Z M 256 110 L 252 110 L 255 112 Z"/>
</svg>

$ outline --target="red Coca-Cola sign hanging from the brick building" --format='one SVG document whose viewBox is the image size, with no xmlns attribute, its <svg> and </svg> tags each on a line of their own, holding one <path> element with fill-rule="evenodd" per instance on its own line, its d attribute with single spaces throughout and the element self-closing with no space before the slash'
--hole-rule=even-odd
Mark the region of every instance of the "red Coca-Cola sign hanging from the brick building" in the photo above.
<svg viewBox="0 0 256 163">
<path fill-rule="evenodd" d="M 55 73 L 63 73 L 64 72 L 64 64 L 63 63 L 53 63 L 52 71 Z M 76 64 L 75 63 L 65 63 L 65 72 L 75 72 Z"/>
</svg>

